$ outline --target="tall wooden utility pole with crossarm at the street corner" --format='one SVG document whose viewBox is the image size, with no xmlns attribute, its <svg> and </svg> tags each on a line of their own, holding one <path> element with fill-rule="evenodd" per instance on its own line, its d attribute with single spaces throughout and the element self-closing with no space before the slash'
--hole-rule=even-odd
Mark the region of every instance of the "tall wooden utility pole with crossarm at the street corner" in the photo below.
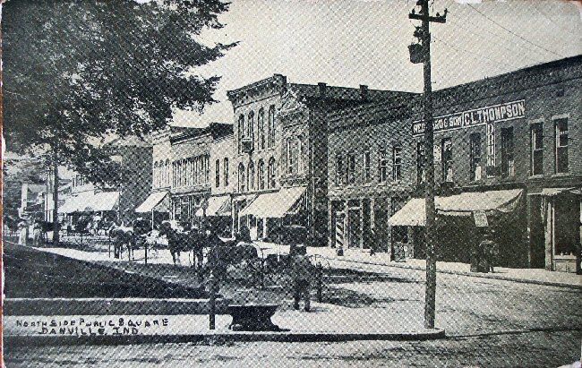
<svg viewBox="0 0 582 368">
<path fill-rule="evenodd" d="M 414 57 L 413 46 L 410 47 L 410 57 L 413 63 L 424 64 L 424 172 L 426 173 L 426 186 L 424 191 L 426 218 L 424 230 L 426 236 L 426 289 L 424 293 L 424 327 L 434 328 L 434 311 L 436 300 L 436 210 L 434 208 L 434 134 L 432 129 L 432 80 L 431 80 L 431 30 L 432 21 L 444 23 L 447 20 L 448 11 L 444 15 L 429 13 L 428 0 L 418 0 L 419 13 L 413 9 L 408 14 L 409 19 L 423 21 L 421 27 L 415 30 L 415 37 L 421 40 L 422 47 L 417 49 L 419 55 Z"/>
</svg>

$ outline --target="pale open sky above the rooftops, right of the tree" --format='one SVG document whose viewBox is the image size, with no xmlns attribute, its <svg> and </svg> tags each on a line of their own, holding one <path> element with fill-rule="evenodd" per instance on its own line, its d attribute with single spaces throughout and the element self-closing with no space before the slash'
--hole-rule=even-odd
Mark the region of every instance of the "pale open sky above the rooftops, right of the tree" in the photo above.
<svg viewBox="0 0 582 368">
<path fill-rule="evenodd" d="M 468 4 L 466 4 L 468 3 Z M 432 88 L 476 81 L 582 54 L 582 6 L 564 0 L 431 0 Z M 220 16 L 222 30 L 202 41 L 240 45 L 193 73 L 221 75 L 202 116 L 176 111 L 174 124 L 232 123 L 227 90 L 274 73 L 287 81 L 422 92 L 422 64 L 407 47 L 419 21 L 408 19 L 415 0 L 234 0 Z"/>
</svg>

